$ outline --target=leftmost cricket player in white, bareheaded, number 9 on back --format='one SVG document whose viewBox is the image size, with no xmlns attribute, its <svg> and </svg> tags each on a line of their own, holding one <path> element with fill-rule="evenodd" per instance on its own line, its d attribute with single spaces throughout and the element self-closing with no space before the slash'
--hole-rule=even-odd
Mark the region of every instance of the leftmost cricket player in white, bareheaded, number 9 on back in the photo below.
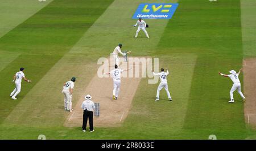
<svg viewBox="0 0 256 151">
<path fill-rule="evenodd" d="M 13 100 L 17 100 L 16 96 L 19 94 L 20 89 L 21 89 L 21 82 L 22 79 L 24 79 L 25 81 L 27 81 L 28 83 L 31 82 L 31 80 L 27 80 L 25 77 L 25 74 L 23 73 L 24 68 L 20 68 L 19 72 L 17 72 L 14 77 L 13 77 L 13 82 L 15 81 L 15 89 L 13 90 L 13 92 L 11 92 L 10 97 Z"/>
</svg>

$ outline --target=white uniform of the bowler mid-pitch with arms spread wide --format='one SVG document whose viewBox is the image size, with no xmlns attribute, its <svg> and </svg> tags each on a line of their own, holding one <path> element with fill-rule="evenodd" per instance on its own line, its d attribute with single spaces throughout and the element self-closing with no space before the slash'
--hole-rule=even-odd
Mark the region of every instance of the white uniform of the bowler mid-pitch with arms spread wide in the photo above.
<svg viewBox="0 0 256 151">
<path fill-rule="evenodd" d="M 110 76 L 113 77 L 113 84 L 114 84 L 113 96 L 115 97 L 118 97 L 118 93 L 120 90 L 122 72 L 123 70 L 119 68 L 115 68 L 114 70 L 110 71 Z"/>
</svg>

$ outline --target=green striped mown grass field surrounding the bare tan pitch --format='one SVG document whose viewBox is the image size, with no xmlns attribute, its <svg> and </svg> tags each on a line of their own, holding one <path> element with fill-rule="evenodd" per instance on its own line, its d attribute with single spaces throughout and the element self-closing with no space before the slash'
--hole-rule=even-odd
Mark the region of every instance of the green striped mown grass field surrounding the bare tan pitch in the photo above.
<svg viewBox="0 0 256 151">
<path fill-rule="evenodd" d="M 6 20 L 0 27 L 0 139 L 37 139 L 40 134 L 47 139 L 208 139 L 212 134 L 256 139 L 256 131 L 245 124 L 238 94 L 236 103 L 227 102 L 232 81 L 218 75 L 238 70 L 244 57 L 256 56 L 255 20 L 250 20 L 255 2 L 180 0 L 171 20 L 146 20 L 149 40 L 143 32 L 134 39 L 136 20 L 131 16 L 142 2 L 156 1 L 53 0 L 19 11 L 6 1 L 10 12 L 26 15 L 15 22 L 17 16 L 7 20 L 8 13 L 1 15 Z M 58 112 L 61 84 L 71 76 L 88 84 L 97 59 L 108 57 L 119 42 L 133 56 L 159 58 L 160 67 L 171 72 L 174 101 L 167 101 L 162 90 L 162 100 L 155 102 L 158 84 L 142 79 L 121 127 L 95 127 L 93 133 L 63 127 L 68 113 Z M 14 101 L 11 79 L 21 66 L 32 83 L 23 82 Z"/>
</svg>

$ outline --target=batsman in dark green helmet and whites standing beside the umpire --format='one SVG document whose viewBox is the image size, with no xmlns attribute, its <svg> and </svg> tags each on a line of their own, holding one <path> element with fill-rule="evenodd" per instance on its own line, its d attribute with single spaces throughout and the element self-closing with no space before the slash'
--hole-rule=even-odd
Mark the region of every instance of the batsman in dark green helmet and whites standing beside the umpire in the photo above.
<svg viewBox="0 0 256 151">
<path fill-rule="evenodd" d="M 62 93 L 64 94 L 64 110 L 73 111 L 72 94 L 75 86 L 76 77 L 72 77 L 71 81 L 64 83 Z"/>
</svg>

